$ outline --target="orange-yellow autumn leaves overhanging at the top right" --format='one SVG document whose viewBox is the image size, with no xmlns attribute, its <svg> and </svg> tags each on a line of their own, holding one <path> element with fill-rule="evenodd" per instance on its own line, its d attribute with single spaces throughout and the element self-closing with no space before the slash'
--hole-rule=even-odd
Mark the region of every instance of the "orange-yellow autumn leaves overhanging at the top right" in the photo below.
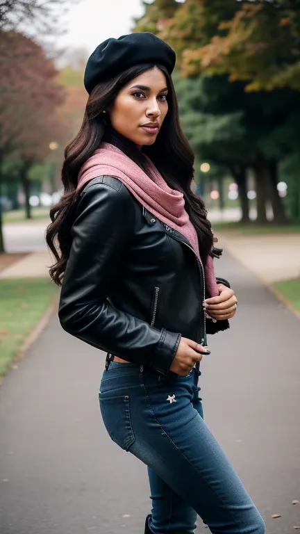
<svg viewBox="0 0 300 534">
<path fill-rule="evenodd" d="M 300 90 L 299 12 L 282 4 L 186 0 L 171 14 L 161 10 L 155 23 L 184 76 L 228 74 L 231 81 L 247 81 L 247 91 Z M 156 6 L 149 6 L 148 22 Z"/>
</svg>

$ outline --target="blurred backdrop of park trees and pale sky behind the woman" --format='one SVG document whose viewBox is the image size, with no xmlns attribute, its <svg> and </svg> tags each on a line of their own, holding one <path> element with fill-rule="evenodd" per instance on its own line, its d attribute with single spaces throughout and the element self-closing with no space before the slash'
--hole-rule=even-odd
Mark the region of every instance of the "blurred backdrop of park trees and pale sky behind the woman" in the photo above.
<svg viewBox="0 0 300 534">
<path fill-rule="evenodd" d="M 211 218 L 299 222 L 298 9 L 297 1 L 1 0 L 2 223 L 47 217 L 83 117 L 86 60 L 101 40 L 131 30 L 157 33 L 178 54 L 194 187 Z"/>
</svg>

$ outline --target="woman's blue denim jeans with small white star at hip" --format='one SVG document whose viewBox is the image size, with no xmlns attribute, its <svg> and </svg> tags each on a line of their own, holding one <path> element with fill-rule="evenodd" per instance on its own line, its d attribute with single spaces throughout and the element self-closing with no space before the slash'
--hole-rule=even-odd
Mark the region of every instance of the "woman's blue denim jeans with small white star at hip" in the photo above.
<svg viewBox="0 0 300 534">
<path fill-rule="evenodd" d="M 213 533 L 263 534 L 262 517 L 203 421 L 200 374 L 160 378 L 110 363 L 99 392 L 104 425 L 148 467 L 153 533 L 192 534 L 198 514 Z"/>
</svg>

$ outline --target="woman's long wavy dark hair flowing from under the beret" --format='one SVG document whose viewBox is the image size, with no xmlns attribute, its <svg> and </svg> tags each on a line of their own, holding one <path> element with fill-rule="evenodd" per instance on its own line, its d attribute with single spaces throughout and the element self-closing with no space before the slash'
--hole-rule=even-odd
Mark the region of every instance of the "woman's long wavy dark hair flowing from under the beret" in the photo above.
<svg viewBox="0 0 300 534">
<path fill-rule="evenodd" d="M 165 74 L 167 79 L 168 111 L 156 142 L 151 146 L 142 147 L 141 151 L 135 147 L 134 143 L 113 130 L 110 126 L 109 114 L 103 111 L 109 111 L 119 90 L 127 83 L 155 66 Z M 46 232 L 47 245 L 56 258 L 56 264 L 49 270 L 52 280 L 58 285 L 62 284 L 72 246 L 71 228 L 76 217 L 78 202 L 78 192 L 76 192 L 78 173 L 83 163 L 99 147 L 101 141 L 117 146 L 145 172 L 148 172 L 147 160 L 144 158 L 144 154 L 147 154 L 167 184 L 183 193 L 185 209 L 197 231 L 201 258 L 206 261 L 213 246 L 213 233 L 203 201 L 191 190 L 194 152 L 179 124 L 178 104 L 172 78 L 161 65 L 137 65 L 109 81 L 99 83 L 94 88 L 88 98 L 81 129 L 65 149 L 65 161 L 62 168 L 64 194 L 50 211 L 52 222 Z"/>
</svg>

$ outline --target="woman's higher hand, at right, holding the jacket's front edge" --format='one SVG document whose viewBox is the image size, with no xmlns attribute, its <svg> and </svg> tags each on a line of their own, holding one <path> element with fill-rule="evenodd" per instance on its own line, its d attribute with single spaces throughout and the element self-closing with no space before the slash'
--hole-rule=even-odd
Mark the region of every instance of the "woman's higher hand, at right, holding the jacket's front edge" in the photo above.
<svg viewBox="0 0 300 534">
<path fill-rule="evenodd" d="M 238 305 L 238 299 L 232 289 L 224 286 L 224 284 L 217 284 L 219 289 L 219 296 L 207 298 L 204 301 L 207 314 L 216 321 L 224 321 L 235 316 Z"/>
</svg>

